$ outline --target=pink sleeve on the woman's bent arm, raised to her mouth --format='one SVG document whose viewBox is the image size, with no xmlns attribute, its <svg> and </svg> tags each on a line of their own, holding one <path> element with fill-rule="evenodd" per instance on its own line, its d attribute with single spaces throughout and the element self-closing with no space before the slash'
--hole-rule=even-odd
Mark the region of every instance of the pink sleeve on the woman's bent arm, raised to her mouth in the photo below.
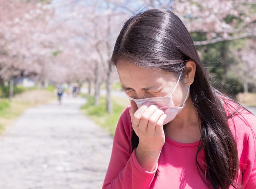
<svg viewBox="0 0 256 189">
<path fill-rule="evenodd" d="M 128 114 L 129 108 L 126 108 L 117 123 L 112 154 L 102 189 L 147 189 L 153 181 L 157 166 L 153 172 L 145 171 L 136 159 L 136 149 L 131 152 L 132 127 Z"/>
</svg>

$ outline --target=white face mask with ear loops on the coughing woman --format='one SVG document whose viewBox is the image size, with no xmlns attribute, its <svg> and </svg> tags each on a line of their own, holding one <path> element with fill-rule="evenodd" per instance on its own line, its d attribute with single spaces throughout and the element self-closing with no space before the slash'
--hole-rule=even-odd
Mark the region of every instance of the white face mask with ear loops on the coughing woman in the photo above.
<svg viewBox="0 0 256 189">
<path fill-rule="evenodd" d="M 181 74 L 182 74 L 182 71 L 181 71 Z M 172 101 L 172 95 L 175 91 L 175 89 L 177 88 L 177 85 L 180 81 L 180 78 L 181 78 L 181 74 L 179 76 L 179 79 L 173 89 L 173 92 L 171 93 L 171 95 L 167 95 L 167 96 L 164 96 L 164 97 L 152 97 L 152 98 L 145 98 L 145 99 L 133 99 L 131 97 L 128 96 L 128 98 L 131 100 L 133 100 L 138 108 L 146 101 L 150 101 L 151 104 L 154 104 L 154 105 L 157 105 L 159 106 L 159 109 L 163 110 L 165 112 L 165 114 L 167 115 L 165 121 L 163 121 L 163 125 L 166 124 L 166 123 L 169 123 L 170 121 L 172 121 L 175 116 L 177 114 L 179 114 L 181 112 L 181 110 L 185 107 L 186 105 L 186 100 L 187 100 L 187 97 L 188 97 L 188 94 L 189 94 L 189 87 L 188 87 L 188 90 L 187 90 L 187 96 L 182 104 L 182 106 L 174 106 L 173 105 L 173 101 Z"/>
</svg>

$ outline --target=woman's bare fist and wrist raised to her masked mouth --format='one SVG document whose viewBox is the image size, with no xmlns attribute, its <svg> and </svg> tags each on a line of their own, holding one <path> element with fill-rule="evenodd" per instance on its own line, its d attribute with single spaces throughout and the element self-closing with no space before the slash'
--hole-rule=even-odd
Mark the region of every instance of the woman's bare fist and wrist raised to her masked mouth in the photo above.
<svg viewBox="0 0 256 189">
<path fill-rule="evenodd" d="M 165 143 L 163 121 L 166 114 L 149 101 L 143 103 L 140 108 L 131 101 L 129 112 L 132 128 L 139 137 L 137 160 L 142 168 L 153 171 Z"/>
</svg>

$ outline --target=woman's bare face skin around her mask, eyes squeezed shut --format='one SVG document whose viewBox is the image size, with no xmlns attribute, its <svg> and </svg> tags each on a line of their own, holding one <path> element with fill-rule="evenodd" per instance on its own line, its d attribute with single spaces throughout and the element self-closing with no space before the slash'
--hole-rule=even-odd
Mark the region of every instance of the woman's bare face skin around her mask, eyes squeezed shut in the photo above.
<svg viewBox="0 0 256 189">
<path fill-rule="evenodd" d="M 117 63 L 117 71 L 126 95 L 134 99 L 170 95 L 178 80 L 172 73 L 140 68 L 125 61 Z M 174 106 L 182 106 L 188 87 L 180 80 L 172 95 Z"/>
</svg>

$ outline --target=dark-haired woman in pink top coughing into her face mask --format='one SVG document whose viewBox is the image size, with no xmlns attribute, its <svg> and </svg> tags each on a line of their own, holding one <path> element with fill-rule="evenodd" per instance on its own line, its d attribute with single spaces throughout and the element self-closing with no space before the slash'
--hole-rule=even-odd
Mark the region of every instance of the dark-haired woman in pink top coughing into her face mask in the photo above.
<svg viewBox="0 0 256 189">
<path fill-rule="evenodd" d="M 112 63 L 131 104 L 102 188 L 256 188 L 256 118 L 210 85 L 175 14 L 128 19 Z"/>
</svg>

